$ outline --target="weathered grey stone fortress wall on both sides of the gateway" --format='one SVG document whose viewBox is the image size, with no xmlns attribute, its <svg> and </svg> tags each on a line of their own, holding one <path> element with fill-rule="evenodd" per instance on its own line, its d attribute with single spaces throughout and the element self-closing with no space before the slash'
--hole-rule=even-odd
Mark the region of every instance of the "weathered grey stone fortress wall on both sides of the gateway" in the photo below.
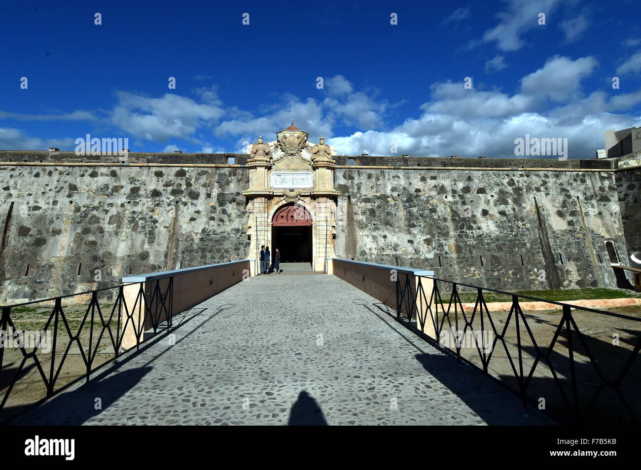
<svg viewBox="0 0 641 470">
<path fill-rule="evenodd" d="M 0 302 L 253 257 L 247 158 L 0 151 Z M 337 256 L 501 290 L 614 287 L 605 240 L 641 267 L 638 154 L 334 158 Z"/>
</svg>

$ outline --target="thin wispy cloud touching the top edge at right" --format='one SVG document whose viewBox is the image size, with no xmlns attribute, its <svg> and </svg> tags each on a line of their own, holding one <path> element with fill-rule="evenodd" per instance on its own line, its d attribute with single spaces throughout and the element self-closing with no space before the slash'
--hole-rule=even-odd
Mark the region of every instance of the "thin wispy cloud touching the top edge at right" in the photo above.
<svg viewBox="0 0 641 470">
<path fill-rule="evenodd" d="M 545 13 L 546 23 L 560 0 L 505 0 L 506 10 L 497 13 L 499 24 L 483 34 L 483 42 L 496 42 L 501 51 L 518 51 L 523 47 L 521 36 L 538 24 L 538 13 Z"/>
</svg>

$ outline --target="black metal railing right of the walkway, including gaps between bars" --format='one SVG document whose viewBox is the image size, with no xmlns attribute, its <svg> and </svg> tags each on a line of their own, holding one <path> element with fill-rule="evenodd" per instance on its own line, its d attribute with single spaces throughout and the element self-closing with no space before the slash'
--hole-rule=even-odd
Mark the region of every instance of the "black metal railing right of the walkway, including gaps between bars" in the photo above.
<svg viewBox="0 0 641 470">
<path fill-rule="evenodd" d="M 524 405 L 564 423 L 638 423 L 640 317 L 426 276 L 399 276 L 396 285 L 397 321 L 497 380 Z M 509 313 L 490 314 L 485 292 L 509 296 Z M 474 307 L 469 301 L 464 308 L 461 295 L 475 296 Z M 543 314 L 525 305 L 524 313 L 524 300 L 556 308 Z M 456 338 L 448 341 L 452 332 Z M 495 349 L 499 342 L 503 348 Z"/>
</svg>

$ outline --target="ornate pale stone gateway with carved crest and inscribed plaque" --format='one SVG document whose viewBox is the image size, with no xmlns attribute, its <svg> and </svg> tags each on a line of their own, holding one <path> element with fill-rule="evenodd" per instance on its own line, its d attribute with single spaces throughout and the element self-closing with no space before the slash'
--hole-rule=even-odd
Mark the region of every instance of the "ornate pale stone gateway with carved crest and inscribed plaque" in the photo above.
<svg viewBox="0 0 641 470">
<path fill-rule="evenodd" d="M 288 247 L 283 260 L 292 253 L 288 255 L 292 260 L 301 258 L 314 271 L 324 271 L 326 258 L 334 256 L 338 191 L 334 190 L 332 156 L 336 149 L 322 137 L 315 145 L 307 137 L 292 123 L 278 131 L 273 142 L 258 137 L 247 146 L 249 190 L 243 194 L 249 213 L 249 256 L 258 258 L 262 245 L 274 251 L 276 242 Z M 281 252 L 283 247 L 278 247 Z"/>
</svg>

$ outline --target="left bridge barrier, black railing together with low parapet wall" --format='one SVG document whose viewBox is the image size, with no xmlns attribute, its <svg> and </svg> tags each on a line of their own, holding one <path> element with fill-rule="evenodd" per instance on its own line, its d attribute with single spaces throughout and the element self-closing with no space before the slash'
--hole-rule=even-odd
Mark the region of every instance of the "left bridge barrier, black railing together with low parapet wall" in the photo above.
<svg viewBox="0 0 641 470">
<path fill-rule="evenodd" d="M 249 260 L 140 274 L 122 285 L 2 306 L 0 420 L 13 417 L 7 410 L 89 382 L 147 340 L 169 334 L 180 312 L 242 281 L 243 267 Z"/>
</svg>

